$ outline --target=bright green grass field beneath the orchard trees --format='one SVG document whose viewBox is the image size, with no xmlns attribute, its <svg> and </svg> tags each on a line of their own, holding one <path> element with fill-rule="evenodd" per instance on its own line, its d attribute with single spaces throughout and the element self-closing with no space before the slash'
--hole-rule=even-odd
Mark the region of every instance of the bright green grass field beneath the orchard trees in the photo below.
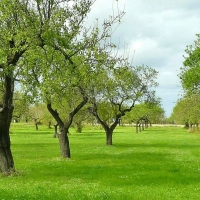
<svg viewBox="0 0 200 200">
<path fill-rule="evenodd" d="M 61 159 L 53 129 L 11 127 L 18 171 L 0 177 L 0 199 L 197 200 L 200 135 L 178 127 L 151 127 L 136 134 L 118 127 L 113 146 L 99 128 L 71 130 L 71 159 Z"/>
</svg>

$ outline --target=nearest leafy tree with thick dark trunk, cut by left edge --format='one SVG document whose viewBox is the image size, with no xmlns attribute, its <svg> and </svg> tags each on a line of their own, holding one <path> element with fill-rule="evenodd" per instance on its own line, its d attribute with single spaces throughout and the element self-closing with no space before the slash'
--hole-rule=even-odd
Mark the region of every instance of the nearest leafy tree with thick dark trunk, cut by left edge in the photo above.
<svg viewBox="0 0 200 200">
<path fill-rule="evenodd" d="M 0 3 L 0 172 L 6 174 L 15 170 L 9 129 L 14 109 L 14 82 L 18 76 L 18 62 L 35 33 L 27 17 L 27 2 L 1 0 Z"/>
</svg>

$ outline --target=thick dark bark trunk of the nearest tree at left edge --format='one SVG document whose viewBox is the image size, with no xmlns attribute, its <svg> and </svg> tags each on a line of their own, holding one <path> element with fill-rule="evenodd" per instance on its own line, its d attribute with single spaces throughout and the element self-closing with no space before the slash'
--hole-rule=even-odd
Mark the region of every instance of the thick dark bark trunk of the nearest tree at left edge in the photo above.
<svg viewBox="0 0 200 200">
<path fill-rule="evenodd" d="M 9 41 L 10 48 L 15 48 L 15 42 L 12 39 Z M 21 44 L 22 46 L 24 43 Z M 23 49 L 23 48 L 22 48 Z M 0 64 L 0 69 L 5 70 L 2 77 L 3 95 L 0 99 L 0 173 L 10 174 L 15 171 L 14 160 L 10 148 L 10 124 L 14 110 L 13 95 L 14 95 L 14 72 L 13 67 L 17 65 L 27 48 L 13 52 L 7 56 L 7 63 Z"/>
</svg>

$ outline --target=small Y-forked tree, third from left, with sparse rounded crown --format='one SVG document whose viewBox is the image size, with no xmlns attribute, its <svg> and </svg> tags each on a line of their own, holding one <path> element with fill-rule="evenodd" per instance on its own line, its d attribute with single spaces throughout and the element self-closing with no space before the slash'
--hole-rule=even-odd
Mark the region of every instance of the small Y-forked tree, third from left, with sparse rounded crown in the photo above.
<svg viewBox="0 0 200 200">
<path fill-rule="evenodd" d="M 95 92 L 89 111 L 104 128 L 107 145 L 112 145 L 114 129 L 135 103 L 154 98 L 152 87 L 157 85 L 156 76 L 154 69 L 147 66 L 133 67 L 126 60 L 116 62 L 109 71 L 102 72 L 102 86 L 94 85 Z"/>
</svg>

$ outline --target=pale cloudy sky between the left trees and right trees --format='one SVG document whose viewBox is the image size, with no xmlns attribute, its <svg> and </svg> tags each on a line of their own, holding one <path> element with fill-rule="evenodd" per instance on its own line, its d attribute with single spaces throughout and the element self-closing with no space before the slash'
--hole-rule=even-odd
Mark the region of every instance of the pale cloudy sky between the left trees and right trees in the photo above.
<svg viewBox="0 0 200 200">
<path fill-rule="evenodd" d="M 199 0 L 96 0 L 89 23 L 124 10 L 112 41 L 121 51 L 128 45 L 133 65 L 147 65 L 158 71 L 156 94 L 166 117 L 181 97 L 178 74 L 185 49 L 200 33 Z"/>
</svg>

